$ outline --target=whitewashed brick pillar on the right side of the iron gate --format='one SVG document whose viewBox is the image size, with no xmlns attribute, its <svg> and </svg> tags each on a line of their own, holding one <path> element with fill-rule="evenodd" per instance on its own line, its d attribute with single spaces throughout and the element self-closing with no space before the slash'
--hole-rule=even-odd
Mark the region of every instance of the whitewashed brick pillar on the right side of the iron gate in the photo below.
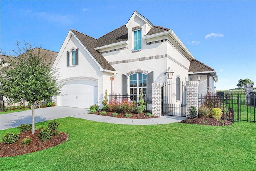
<svg viewBox="0 0 256 171">
<path fill-rule="evenodd" d="M 190 106 L 196 106 L 196 111 L 198 110 L 198 81 L 186 81 L 186 91 L 187 91 L 187 102 L 186 102 L 186 112 L 187 118 L 190 117 L 189 108 Z"/>
</svg>

